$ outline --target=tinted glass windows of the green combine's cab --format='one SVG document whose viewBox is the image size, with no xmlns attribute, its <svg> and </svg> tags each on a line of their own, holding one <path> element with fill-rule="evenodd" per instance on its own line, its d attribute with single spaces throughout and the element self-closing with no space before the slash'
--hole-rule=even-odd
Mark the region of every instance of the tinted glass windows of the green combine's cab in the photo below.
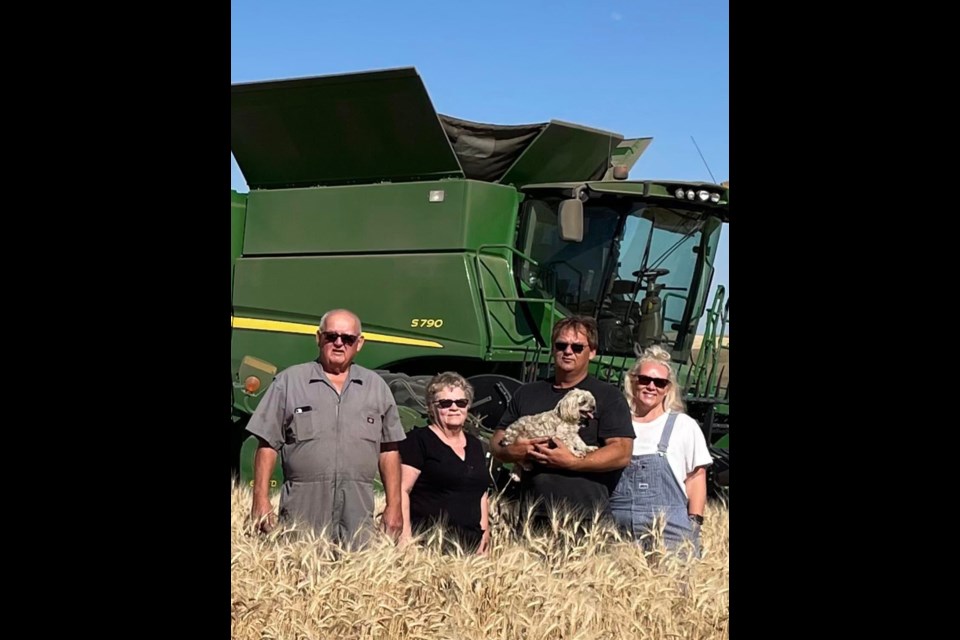
<svg viewBox="0 0 960 640">
<path fill-rule="evenodd" d="M 689 329 L 683 333 L 692 331 L 703 313 L 719 238 L 706 214 L 622 197 L 591 199 L 583 207 L 583 241 L 565 242 L 559 202 L 524 202 L 523 251 L 538 263 L 521 264 L 524 283 L 555 297 L 565 314 L 597 318 L 604 353 L 632 353 L 634 342 L 670 343 L 684 320 Z M 701 252 L 708 260 L 698 269 Z M 685 318 L 691 289 L 696 299 Z M 650 313 L 641 322 L 648 295 L 659 305 L 644 305 Z"/>
</svg>

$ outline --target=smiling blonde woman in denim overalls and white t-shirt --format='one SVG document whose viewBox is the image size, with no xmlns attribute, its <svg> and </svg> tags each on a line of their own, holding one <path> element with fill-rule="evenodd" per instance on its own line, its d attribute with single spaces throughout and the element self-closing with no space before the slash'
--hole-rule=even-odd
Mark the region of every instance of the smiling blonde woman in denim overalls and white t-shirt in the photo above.
<svg viewBox="0 0 960 640">
<path fill-rule="evenodd" d="M 648 348 L 624 385 L 633 414 L 633 457 L 610 497 L 617 525 L 645 548 L 652 528 L 665 520 L 663 541 L 677 549 L 685 540 L 700 557 L 700 525 L 707 501 L 705 467 L 713 462 L 697 422 L 686 415 L 670 354 Z"/>
</svg>

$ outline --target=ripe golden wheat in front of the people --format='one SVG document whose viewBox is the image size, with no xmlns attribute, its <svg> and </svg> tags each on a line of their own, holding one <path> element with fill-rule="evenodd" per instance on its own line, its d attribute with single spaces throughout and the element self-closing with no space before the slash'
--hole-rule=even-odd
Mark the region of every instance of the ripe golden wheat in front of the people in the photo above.
<svg viewBox="0 0 960 640">
<path fill-rule="evenodd" d="M 702 558 L 684 562 L 603 526 L 576 537 L 559 518 L 555 535 L 518 535 L 496 498 L 486 556 L 441 553 L 439 531 L 404 546 L 380 536 L 360 551 L 290 527 L 254 533 L 250 503 L 236 487 L 235 639 L 729 637 L 724 504 L 707 505 Z"/>
</svg>

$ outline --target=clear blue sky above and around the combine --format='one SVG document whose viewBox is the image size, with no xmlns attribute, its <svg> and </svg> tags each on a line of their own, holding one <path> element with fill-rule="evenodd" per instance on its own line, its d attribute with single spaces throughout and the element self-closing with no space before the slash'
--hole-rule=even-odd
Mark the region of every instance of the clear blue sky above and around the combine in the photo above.
<svg viewBox="0 0 960 640">
<path fill-rule="evenodd" d="M 730 178 L 728 0 L 233 0 L 231 10 L 232 82 L 416 67 L 440 113 L 651 136 L 631 179 Z M 247 191 L 232 157 L 231 167 L 232 187 Z M 714 285 L 729 297 L 728 242 L 725 229 Z"/>
</svg>

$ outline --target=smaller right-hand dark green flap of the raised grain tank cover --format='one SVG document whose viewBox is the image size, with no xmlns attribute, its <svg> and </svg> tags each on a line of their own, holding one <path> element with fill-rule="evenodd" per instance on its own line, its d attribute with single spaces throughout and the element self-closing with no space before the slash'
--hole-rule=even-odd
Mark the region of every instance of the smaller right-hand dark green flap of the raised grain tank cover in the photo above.
<svg viewBox="0 0 960 640">
<path fill-rule="evenodd" d="M 503 184 L 587 181 L 604 175 L 611 152 L 623 136 L 551 120 L 507 173 Z"/>
</svg>

